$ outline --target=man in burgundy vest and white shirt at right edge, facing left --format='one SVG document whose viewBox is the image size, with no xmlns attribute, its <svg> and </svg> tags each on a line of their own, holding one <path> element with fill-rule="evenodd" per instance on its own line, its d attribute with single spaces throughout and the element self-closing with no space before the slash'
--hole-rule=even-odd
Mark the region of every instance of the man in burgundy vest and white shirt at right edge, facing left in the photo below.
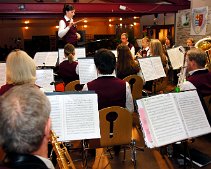
<svg viewBox="0 0 211 169">
<path fill-rule="evenodd" d="M 180 84 L 181 90 L 197 89 L 202 97 L 211 95 L 211 72 L 205 68 L 207 55 L 199 48 L 193 48 L 186 54 L 187 82 Z"/>
</svg>

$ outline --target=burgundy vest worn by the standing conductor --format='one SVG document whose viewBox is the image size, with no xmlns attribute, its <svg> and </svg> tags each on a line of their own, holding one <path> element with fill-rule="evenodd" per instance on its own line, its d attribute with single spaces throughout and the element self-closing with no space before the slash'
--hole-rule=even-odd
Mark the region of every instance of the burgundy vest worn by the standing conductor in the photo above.
<svg viewBox="0 0 211 169">
<path fill-rule="evenodd" d="M 62 18 L 62 20 L 65 22 L 66 26 L 69 25 L 69 23 L 65 20 L 65 18 Z M 63 41 L 65 44 L 70 43 L 74 46 L 77 45 L 77 27 L 75 25 L 71 26 L 69 31 L 66 33 L 65 36 L 63 36 Z"/>
</svg>

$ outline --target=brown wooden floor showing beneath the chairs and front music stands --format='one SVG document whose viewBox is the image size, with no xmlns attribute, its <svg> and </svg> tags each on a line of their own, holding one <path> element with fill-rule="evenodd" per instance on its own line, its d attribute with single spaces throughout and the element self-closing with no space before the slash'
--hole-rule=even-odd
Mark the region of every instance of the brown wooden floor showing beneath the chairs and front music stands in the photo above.
<svg viewBox="0 0 211 169">
<path fill-rule="evenodd" d="M 133 137 L 136 139 L 137 146 L 144 147 L 144 141 L 142 134 L 136 129 L 133 129 Z M 193 143 L 189 143 L 189 148 L 195 148 L 200 152 L 205 153 L 211 157 L 211 135 L 206 135 L 202 137 L 195 138 Z M 144 148 L 143 151 L 137 151 L 137 162 L 136 167 L 134 167 L 131 161 L 131 153 L 128 149 L 126 151 L 126 160 L 123 162 L 123 150 L 120 152 L 119 156 L 113 154 L 113 159 L 110 159 L 110 155 L 105 149 L 97 149 L 96 157 L 88 157 L 87 168 L 93 169 L 181 169 L 185 166 L 179 165 L 177 159 L 167 157 L 167 155 L 162 156 L 159 148 L 149 149 Z M 82 161 L 74 157 L 74 153 L 71 153 L 72 159 L 76 168 L 84 168 Z M 181 157 L 183 160 L 183 158 Z M 188 162 L 187 169 L 191 168 Z M 198 169 L 200 167 L 193 164 L 192 168 Z M 203 169 L 211 169 L 211 163 L 203 167 Z"/>
</svg>

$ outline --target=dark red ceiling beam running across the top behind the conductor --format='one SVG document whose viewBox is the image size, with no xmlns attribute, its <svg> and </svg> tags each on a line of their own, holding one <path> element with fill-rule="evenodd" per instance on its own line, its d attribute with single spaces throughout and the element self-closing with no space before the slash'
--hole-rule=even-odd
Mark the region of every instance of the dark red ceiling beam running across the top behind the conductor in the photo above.
<svg viewBox="0 0 211 169">
<path fill-rule="evenodd" d="M 0 18 L 61 17 L 63 5 L 74 5 L 78 17 L 142 16 L 189 9 L 189 0 L 0 0 Z"/>
</svg>

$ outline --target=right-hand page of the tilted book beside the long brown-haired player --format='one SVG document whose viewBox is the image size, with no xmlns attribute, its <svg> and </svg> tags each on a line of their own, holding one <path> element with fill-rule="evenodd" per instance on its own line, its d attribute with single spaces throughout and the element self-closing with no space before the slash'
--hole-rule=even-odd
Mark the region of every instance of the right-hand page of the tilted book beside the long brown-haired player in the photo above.
<svg viewBox="0 0 211 169">
<path fill-rule="evenodd" d="M 151 57 L 151 61 L 152 61 L 152 65 L 155 69 L 156 76 L 158 78 L 166 77 L 166 73 L 163 69 L 163 64 L 161 62 L 161 58 L 159 56 L 158 57 Z"/>
</svg>

